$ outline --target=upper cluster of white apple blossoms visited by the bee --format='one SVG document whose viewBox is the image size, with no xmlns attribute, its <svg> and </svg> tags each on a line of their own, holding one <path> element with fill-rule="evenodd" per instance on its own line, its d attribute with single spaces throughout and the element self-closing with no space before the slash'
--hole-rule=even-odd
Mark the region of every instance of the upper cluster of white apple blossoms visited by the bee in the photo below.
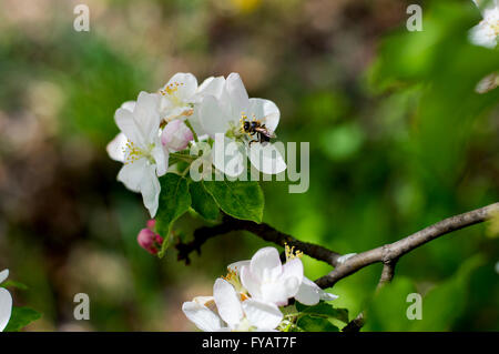
<svg viewBox="0 0 499 354">
<path fill-rule="evenodd" d="M 243 173 L 245 156 L 264 173 L 283 172 L 286 164 L 277 149 L 255 139 L 254 130 L 244 129 L 245 123 L 257 123 L 275 136 L 279 117 L 274 102 L 248 97 L 237 73 L 211 77 L 200 85 L 193 74 L 176 73 L 157 92 L 141 92 L 136 101 L 124 102 L 116 110 L 114 120 L 121 132 L 106 150 L 123 163 L 118 180 L 142 194 L 154 218 L 161 191 L 159 178 L 173 172 L 170 156 L 200 141 L 213 145 L 211 161 L 226 175 Z M 235 148 L 228 149 L 231 144 Z"/>
</svg>

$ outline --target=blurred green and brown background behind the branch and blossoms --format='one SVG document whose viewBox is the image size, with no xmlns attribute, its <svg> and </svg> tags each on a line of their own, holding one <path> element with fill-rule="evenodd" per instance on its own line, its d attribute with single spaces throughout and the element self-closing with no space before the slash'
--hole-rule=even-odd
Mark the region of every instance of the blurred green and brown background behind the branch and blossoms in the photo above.
<svg viewBox="0 0 499 354">
<path fill-rule="evenodd" d="M 240 72 L 251 97 L 276 102 L 279 140 L 310 142 L 310 188 L 264 182 L 264 221 L 340 253 L 406 236 L 499 200 L 499 89 L 473 92 L 498 51 L 472 47 L 471 0 L 425 2 L 409 32 L 400 0 L 86 0 L 90 32 L 73 30 L 79 1 L 0 2 L 0 269 L 29 286 L 18 305 L 43 313 L 31 331 L 190 331 L 181 305 L 263 241 L 208 241 L 186 266 L 175 250 L 139 247 L 147 214 L 115 181 L 106 143 L 113 114 L 175 72 Z M 185 237 L 205 223 L 185 215 Z M 406 255 L 374 301 L 380 266 L 332 290 L 365 330 L 498 331 L 499 241 L 488 224 Z M 306 275 L 330 269 L 304 257 Z M 405 315 L 408 292 L 424 320 Z M 73 296 L 91 320 L 73 318 Z M 393 305 L 390 305 L 393 304 Z"/>
</svg>

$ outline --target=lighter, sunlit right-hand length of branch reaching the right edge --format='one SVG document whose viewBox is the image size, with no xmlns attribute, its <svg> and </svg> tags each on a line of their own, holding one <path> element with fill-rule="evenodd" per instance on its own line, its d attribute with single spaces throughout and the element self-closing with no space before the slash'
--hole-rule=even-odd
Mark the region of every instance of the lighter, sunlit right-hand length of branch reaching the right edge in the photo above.
<svg viewBox="0 0 499 354">
<path fill-rule="evenodd" d="M 361 270 L 367 265 L 378 262 L 381 262 L 386 265 L 390 262 L 396 262 L 396 260 L 398 260 L 400 256 L 419 247 L 420 245 L 439 236 L 448 234 L 452 231 L 483 222 L 488 218 L 490 218 L 492 213 L 498 211 L 499 203 L 490 204 L 464 214 L 445 219 L 397 242 L 356 254 L 344 263 L 339 264 L 329 274 L 316 280 L 316 284 L 323 289 L 330 287 L 339 280 L 354 274 L 355 272 Z M 386 271 L 384 270 L 384 272 L 387 272 L 387 274 L 389 274 L 388 272 L 390 272 L 390 270 L 387 269 Z M 390 276 L 393 276 L 393 274 Z"/>
</svg>

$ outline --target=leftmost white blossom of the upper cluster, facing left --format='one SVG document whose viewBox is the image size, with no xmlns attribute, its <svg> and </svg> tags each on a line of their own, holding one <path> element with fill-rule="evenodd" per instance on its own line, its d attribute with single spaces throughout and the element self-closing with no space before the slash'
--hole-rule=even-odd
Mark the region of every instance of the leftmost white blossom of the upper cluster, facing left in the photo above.
<svg viewBox="0 0 499 354">
<path fill-rule="evenodd" d="M 114 120 L 121 133 L 108 144 L 108 153 L 123 162 L 118 180 L 133 192 L 142 193 L 152 218 L 157 211 L 160 182 L 166 173 L 169 152 L 160 138 L 159 102 L 154 94 L 141 92 L 136 103 L 125 102 Z"/>
</svg>

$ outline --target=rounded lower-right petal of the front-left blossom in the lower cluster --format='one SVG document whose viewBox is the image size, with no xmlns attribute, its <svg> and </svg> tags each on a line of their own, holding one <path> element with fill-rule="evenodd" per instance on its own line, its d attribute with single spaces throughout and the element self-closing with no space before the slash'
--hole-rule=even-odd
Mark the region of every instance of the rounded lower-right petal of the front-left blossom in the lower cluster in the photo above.
<svg viewBox="0 0 499 354">
<path fill-rule="evenodd" d="M 274 330 L 283 320 L 283 314 L 276 305 L 254 299 L 243 302 L 243 310 L 249 323 L 261 330 Z"/>
</svg>

